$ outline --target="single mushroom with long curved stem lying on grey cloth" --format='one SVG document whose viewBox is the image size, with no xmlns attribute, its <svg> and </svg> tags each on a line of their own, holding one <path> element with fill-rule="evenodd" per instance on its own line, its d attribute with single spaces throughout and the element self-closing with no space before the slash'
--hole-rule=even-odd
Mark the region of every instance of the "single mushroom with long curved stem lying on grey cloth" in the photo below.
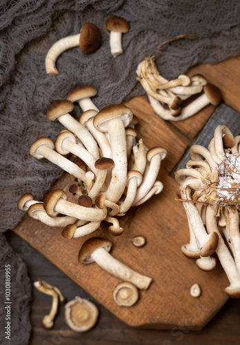
<svg viewBox="0 0 240 345">
<path fill-rule="evenodd" d="M 86 23 L 82 26 L 80 34 L 64 37 L 54 43 L 50 50 L 48 50 L 45 61 L 48 75 L 58 75 L 59 72 L 55 66 L 57 58 L 66 50 L 77 46 L 79 46 L 81 52 L 84 54 L 96 52 L 101 46 L 101 33 L 99 28 L 93 23 Z"/>
</svg>

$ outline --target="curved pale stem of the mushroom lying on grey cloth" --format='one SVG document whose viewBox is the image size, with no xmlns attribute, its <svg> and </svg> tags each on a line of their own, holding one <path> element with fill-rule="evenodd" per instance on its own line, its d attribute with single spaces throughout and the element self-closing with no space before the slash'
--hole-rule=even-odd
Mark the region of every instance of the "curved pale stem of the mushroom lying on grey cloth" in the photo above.
<svg viewBox="0 0 240 345">
<path fill-rule="evenodd" d="M 59 39 L 54 45 L 48 50 L 46 56 L 45 66 L 46 72 L 48 75 L 58 75 L 59 72 L 55 66 L 57 58 L 61 55 L 62 52 L 70 48 L 79 46 L 80 34 L 74 34 L 73 36 L 64 37 Z"/>
</svg>

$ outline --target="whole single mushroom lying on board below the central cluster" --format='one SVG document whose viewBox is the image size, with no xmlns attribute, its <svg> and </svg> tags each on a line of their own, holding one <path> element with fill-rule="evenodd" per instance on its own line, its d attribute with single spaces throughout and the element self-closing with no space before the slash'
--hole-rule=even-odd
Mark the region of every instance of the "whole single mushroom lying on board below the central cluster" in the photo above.
<svg viewBox="0 0 240 345">
<path fill-rule="evenodd" d="M 92 264 L 96 262 L 101 268 L 115 277 L 146 290 L 150 286 L 152 278 L 135 272 L 132 268 L 112 257 L 109 253 L 111 248 L 112 243 L 107 239 L 101 237 L 87 239 L 79 251 L 79 263 Z"/>
</svg>

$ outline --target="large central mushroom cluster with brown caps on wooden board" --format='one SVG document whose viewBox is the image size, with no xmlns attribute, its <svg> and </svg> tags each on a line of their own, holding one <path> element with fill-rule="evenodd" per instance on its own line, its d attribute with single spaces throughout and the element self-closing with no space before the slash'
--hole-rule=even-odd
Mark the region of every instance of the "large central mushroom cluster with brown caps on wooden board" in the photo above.
<svg viewBox="0 0 240 345">
<path fill-rule="evenodd" d="M 130 108 L 114 104 L 99 111 L 90 99 L 96 92 L 91 86 L 79 86 L 68 93 L 68 99 L 52 101 L 47 117 L 65 129 L 55 143 L 42 137 L 30 147 L 30 155 L 44 157 L 74 177 L 69 190 L 76 202 L 68 201 L 63 190 L 53 190 L 41 203 L 26 193 L 18 204 L 30 217 L 63 227 L 67 239 L 92 233 L 103 220 L 110 224 L 112 235 L 121 235 L 117 217 L 163 188 L 157 175 L 166 150 L 148 149 L 143 139 L 137 139 L 137 119 Z M 70 115 L 75 101 L 83 110 L 79 121 Z"/>
</svg>

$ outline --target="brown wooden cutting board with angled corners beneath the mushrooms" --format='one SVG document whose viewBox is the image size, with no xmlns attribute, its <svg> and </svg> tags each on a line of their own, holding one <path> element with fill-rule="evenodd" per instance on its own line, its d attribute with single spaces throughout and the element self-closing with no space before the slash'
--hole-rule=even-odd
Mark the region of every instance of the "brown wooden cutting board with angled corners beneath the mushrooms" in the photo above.
<svg viewBox="0 0 240 345">
<path fill-rule="evenodd" d="M 232 63 L 239 68 L 240 59 L 228 59 L 219 64 L 220 69 L 219 65 L 199 66 L 190 70 L 189 74 L 201 72 L 210 82 L 214 82 L 217 74 L 218 83 L 214 83 L 221 86 L 224 101 L 232 106 L 231 102 L 234 102 L 239 90 L 232 85 L 229 73 L 220 72 L 222 68 L 232 71 Z M 64 239 L 61 228 L 50 228 L 28 215 L 13 230 L 126 324 L 134 327 L 201 329 L 228 299 L 224 288 L 229 283 L 219 262 L 217 268 L 204 272 L 197 268 L 194 260 L 181 253 L 181 246 L 188 243 L 188 223 L 181 202 L 174 200 L 178 186 L 173 175 L 214 107 L 208 106 L 186 121 L 170 123 L 154 114 L 146 97 L 134 98 L 126 104 L 139 119 L 137 132 L 144 143 L 148 147 L 162 146 L 168 150 L 158 178 L 163 182 L 163 192 L 119 218 L 124 228 L 123 235 L 112 237 L 103 223 L 101 230 L 88 237 L 97 235 L 110 239 L 114 257 L 139 273 L 152 277 L 150 288 L 140 291 L 139 302 L 131 308 L 117 306 L 112 299 L 112 291 L 120 279 L 106 273 L 97 264 L 83 266 L 78 263 L 79 248 L 88 237 Z M 237 109 L 237 106 L 234 108 Z M 72 182 L 73 177 L 64 174 L 53 188 L 63 188 L 68 193 Z M 134 247 L 129 239 L 135 235 L 146 237 L 146 246 Z M 199 298 L 190 296 L 190 287 L 195 283 L 201 286 Z"/>
</svg>

